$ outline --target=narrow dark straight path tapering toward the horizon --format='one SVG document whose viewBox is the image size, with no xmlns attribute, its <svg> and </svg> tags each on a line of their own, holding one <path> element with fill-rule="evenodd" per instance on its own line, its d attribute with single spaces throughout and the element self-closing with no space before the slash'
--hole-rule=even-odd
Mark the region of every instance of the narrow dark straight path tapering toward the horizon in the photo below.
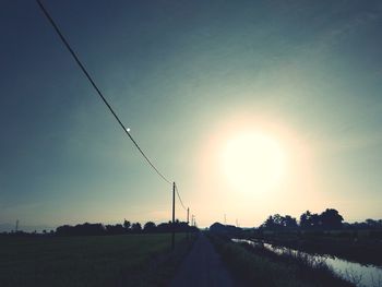
<svg viewBox="0 0 382 287">
<path fill-rule="evenodd" d="M 192 250 L 179 267 L 171 287 L 229 287 L 235 286 L 231 275 L 223 265 L 210 240 L 200 232 Z"/>
</svg>

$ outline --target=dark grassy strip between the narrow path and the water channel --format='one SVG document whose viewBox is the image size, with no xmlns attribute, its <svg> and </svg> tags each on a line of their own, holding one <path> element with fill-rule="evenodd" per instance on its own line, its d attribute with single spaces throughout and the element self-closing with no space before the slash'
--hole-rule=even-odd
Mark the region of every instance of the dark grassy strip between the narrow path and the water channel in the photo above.
<svg viewBox="0 0 382 287">
<path fill-rule="evenodd" d="M 227 238 L 212 234 L 208 234 L 208 237 L 242 286 L 354 286 L 336 276 L 323 262 L 277 255 L 261 248 L 234 243 Z"/>
</svg>

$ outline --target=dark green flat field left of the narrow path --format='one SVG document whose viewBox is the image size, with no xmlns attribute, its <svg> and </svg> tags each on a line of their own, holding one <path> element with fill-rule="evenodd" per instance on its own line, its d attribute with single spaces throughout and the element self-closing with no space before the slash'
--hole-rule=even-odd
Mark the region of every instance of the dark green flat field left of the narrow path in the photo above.
<svg viewBox="0 0 382 287">
<path fill-rule="evenodd" d="M 165 284 L 191 240 L 177 235 L 0 237 L 0 286 Z"/>
</svg>

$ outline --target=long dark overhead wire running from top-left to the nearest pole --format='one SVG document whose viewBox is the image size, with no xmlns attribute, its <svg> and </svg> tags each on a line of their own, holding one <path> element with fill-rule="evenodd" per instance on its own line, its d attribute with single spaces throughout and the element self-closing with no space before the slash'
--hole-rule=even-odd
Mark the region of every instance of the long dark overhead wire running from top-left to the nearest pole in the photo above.
<svg viewBox="0 0 382 287">
<path fill-rule="evenodd" d="M 48 13 L 48 11 L 45 9 L 45 7 L 43 5 L 43 3 L 40 2 L 40 0 L 36 0 L 39 8 L 41 9 L 41 11 L 44 12 L 45 16 L 48 19 L 48 21 L 50 22 L 50 24 L 52 25 L 52 27 L 55 28 L 55 31 L 57 32 L 57 34 L 59 35 L 60 39 L 62 40 L 62 43 L 64 44 L 64 46 L 68 48 L 69 52 L 72 55 L 73 59 L 75 60 L 75 62 L 79 64 L 80 69 L 82 70 L 82 72 L 85 74 L 85 76 L 87 77 L 87 80 L 91 82 L 92 86 L 94 87 L 94 89 L 97 92 L 98 96 L 102 98 L 102 100 L 104 101 L 104 104 L 108 107 L 109 111 L 112 113 L 112 116 L 116 118 L 116 120 L 118 121 L 118 123 L 121 125 L 121 128 L 123 129 L 123 131 L 128 134 L 128 136 L 130 137 L 130 140 L 133 142 L 133 144 L 135 145 L 135 147 L 138 148 L 138 151 L 141 153 L 141 155 L 144 157 L 144 159 L 146 159 L 147 164 L 155 170 L 155 172 L 162 177 L 167 183 L 171 182 L 154 166 L 154 164 L 150 160 L 150 158 L 145 155 L 145 153 L 142 151 L 142 148 L 140 147 L 140 145 L 135 142 L 135 140 L 133 139 L 133 136 L 130 134 L 129 130 L 123 125 L 122 121 L 118 118 L 117 113 L 114 111 L 114 109 L 111 108 L 110 104 L 106 100 L 106 98 L 104 97 L 103 93 L 100 92 L 100 89 L 98 88 L 98 86 L 96 85 L 96 83 L 94 82 L 94 80 L 92 79 L 92 76 L 89 75 L 89 73 L 86 71 L 85 67 L 83 65 L 83 63 L 80 61 L 79 57 L 76 56 L 76 53 L 74 52 L 74 50 L 71 48 L 71 46 L 69 45 L 68 40 L 65 39 L 65 37 L 62 35 L 61 31 L 59 29 L 59 27 L 57 26 L 57 24 L 55 23 L 55 21 L 52 20 L 52 17 L 50 16 L 50 14 Z"/>
</svg>

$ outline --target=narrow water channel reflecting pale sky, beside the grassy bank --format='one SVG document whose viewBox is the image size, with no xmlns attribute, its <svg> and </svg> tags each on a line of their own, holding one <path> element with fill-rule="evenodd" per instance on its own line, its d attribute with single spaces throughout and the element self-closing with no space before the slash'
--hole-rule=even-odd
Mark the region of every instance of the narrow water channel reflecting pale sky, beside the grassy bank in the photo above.
<svg viewBox="0 0 382 287">
<path fill-rule="evenodd" d="M 324 261 L 333 271 L 359 287 L 382 287 L 382 268 L 374 265 L 362 265 L 356 262 L 338 259 L 332 255 L 309 254 L 285 247 L 276 247 L 266 242 L 247 239 L 232 239 L 234 242 L 248 243 L 253 247 L 263 246 L 277 254 L 303 255 L 312 260 Z"/>
</svg>

